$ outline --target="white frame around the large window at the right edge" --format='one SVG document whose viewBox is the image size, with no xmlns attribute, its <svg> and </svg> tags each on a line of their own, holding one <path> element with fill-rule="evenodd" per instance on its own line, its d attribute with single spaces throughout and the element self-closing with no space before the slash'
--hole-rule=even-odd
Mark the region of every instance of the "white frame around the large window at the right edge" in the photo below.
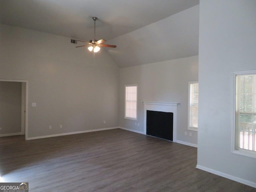
<svg viewBox="0 0 256 192">
<path fill-rule="evenodd" d="M 236 76 L 237 75 L 256 75 L 256 70 L 246 70 L 246 71 L 234 71 L 232 72 L 232 143 L 231 152 L 233 154 L 238 154 L 242 156 L 247 156 L 251 158 L 256 158 L 256 152 L 246 149 L 236 149 Z"/>
</svg>

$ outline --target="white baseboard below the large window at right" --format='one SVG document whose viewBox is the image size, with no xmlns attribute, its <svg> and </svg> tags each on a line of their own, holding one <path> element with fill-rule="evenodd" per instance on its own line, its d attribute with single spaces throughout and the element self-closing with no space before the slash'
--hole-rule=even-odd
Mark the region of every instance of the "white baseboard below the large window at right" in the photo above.
<svg viewBox="0 0 256 192">
<path fill-rule="evenodd" d="M 256 188 L 256 183 L 254 183 L 254 182 L 251 182 L 251 181 L 239 178 L 239 177 L 235 177 L 235 176 L 223 173 L 223 172 L 219 172 L 219 171 L 216 171 L 216 170 L 204 167 L 204 166 L 200 166 L 200 165 L 196 165 L 196 168 Z"/>
</svg>

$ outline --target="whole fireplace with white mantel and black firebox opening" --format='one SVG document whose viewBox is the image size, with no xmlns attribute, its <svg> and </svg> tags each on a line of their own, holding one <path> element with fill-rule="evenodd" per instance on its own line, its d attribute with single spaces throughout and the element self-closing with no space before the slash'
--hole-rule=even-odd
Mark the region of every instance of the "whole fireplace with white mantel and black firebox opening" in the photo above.
<svg viewBox="0 0 256 192">
<path fill-rule="evenodd" d="M 156 136 L 159 138 L 161 138 L 160 136 L 161 134 L 167 135 L 168 138 L 164 138 L 164 139 L 176 142 L 177 106 L 179 103 L 143 101 L 143 104 L 144 104 L 144 134 Z M 164 113 L 157 113 L 157 112 L 164 112 Z M 156 114 L 156 117 L 150 117 L 150 119 L 148 119 L 148 116 L 150 116 L 150 114 Z M 165 118 L 166 120 L 162 120 L 162 118 Z M 170 120 L 170 118 L 172 119 Z M 168 124 L 167 126 L 162 124 L 162 122 L 164 121 L 166 121 L 166 123 Z M 147 124 L 148 125 L 153 124 L 153 126 L 156 126 L 156 128 L 150 128 L 151 130 L 147 130 Z M 151 125 L 149 125 L 149 127 L 151 127 Z M 159 127 L 163 129 L 160 130 Z M 153 134 L 152 134 L 152 131 L 153 131 Z"/>
</svg>

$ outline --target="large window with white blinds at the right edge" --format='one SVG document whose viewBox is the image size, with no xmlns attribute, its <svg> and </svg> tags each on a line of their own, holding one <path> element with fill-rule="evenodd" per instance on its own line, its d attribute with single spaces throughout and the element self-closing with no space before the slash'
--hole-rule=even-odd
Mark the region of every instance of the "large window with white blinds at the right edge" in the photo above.
<svg viewBox="0 0 256 192">
<path fill-rule="evenodd" d="M 235 72 L 235 81 L 234 149 L 256 157 L 256 71 Z"/>
</svg>

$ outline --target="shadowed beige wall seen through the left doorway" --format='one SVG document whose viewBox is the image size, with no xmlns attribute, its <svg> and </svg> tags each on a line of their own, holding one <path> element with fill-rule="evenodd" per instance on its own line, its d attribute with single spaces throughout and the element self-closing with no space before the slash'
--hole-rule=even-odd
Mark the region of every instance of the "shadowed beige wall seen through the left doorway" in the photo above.
<svg viewBox="0 0 256 192">
<path fill-rule="evenodd" d="M 1 134 L 21 132 L 21 82 L 0 81 Z"/>
</svg>

